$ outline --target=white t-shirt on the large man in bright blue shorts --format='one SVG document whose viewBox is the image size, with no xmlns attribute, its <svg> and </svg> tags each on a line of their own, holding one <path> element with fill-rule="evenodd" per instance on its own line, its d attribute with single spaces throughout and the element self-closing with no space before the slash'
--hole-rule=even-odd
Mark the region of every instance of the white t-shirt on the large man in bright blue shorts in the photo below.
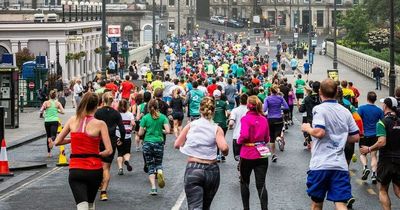
<svg viewBox="0 0 400 210">
<path fill-rule="evenodd" d="M 322 139 L 312 137 L 310 170 L 348 171 L 344 147 L 349 135 L 359 133 L 350 111 L 334 100 L 313 108 L 313 128 L 325 130 Z"/>
</svg>

